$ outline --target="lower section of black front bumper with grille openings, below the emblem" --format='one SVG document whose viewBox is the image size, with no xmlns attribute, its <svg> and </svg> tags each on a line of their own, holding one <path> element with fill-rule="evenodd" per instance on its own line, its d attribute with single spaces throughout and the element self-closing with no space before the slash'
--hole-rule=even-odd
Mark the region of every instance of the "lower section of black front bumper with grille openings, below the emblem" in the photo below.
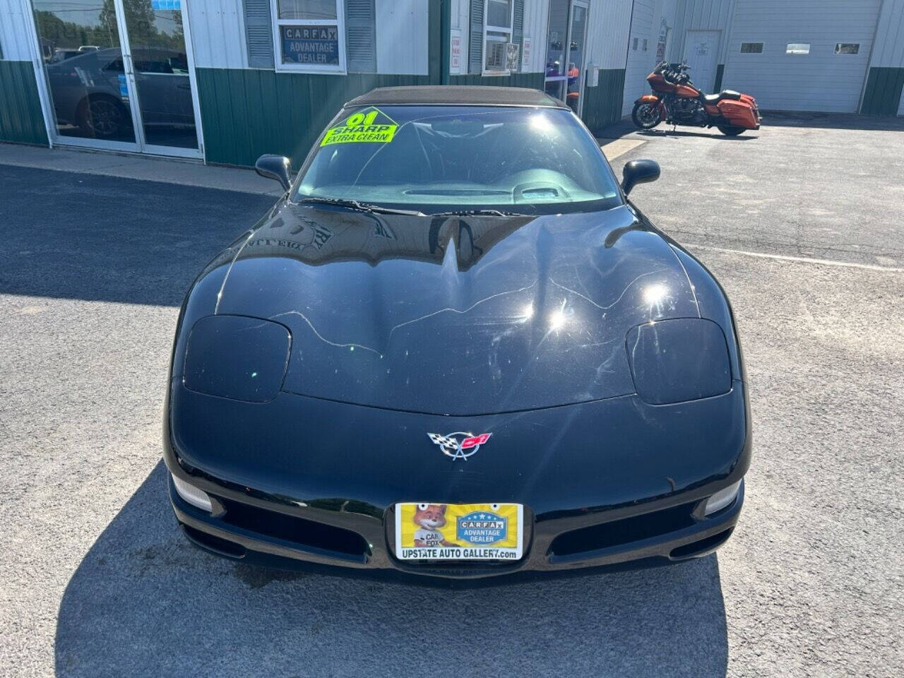
<svg viewBox="0 0 904 678">
<path fill-rule="evenodd" d="M 579 521 L 580 527 L 573 518 L 536 523 L 525 507 L 526 547 L 521 560 L 412 564 L 393 555 L 395 535 L 388 527 L 394 524 L 392 508 L 382 518 L 342 509 L 329 512 L 243 492 L 209 476 L 187 476 L 181 468 L 175 472 L 212 496 L 214 511 L 208 513 L 187 504 L 176 493 L 172 478 L 168 480 L 176 520 L 185 536 L 205 551 L 285 570 L 427 583 L 439 579 L 503 583 L 588 568 L 624 570 L 700 558 L 729 539 L 744 503 L 741 483 L 734 501 L 711 516 L 703 515 L 705 496 L 688 501 L 688 496 L 677 494 L 630 509 L 590 513 Z"/>
</svg>

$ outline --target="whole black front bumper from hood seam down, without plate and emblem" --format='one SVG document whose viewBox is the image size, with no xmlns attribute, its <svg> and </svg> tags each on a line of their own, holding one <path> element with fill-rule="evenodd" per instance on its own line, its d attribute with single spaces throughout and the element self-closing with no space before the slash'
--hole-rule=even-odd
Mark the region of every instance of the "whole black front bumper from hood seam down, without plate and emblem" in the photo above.
<svg viewBox="0 0 904 678">
<path fill-rule="evenodd" d="M 703 504 L 749 468 L 745 391 L 735 381 L 676 405 L 626 397 L 457 420 L 291 394 L 248 407 L 176 382 L 164 459 L 212 497 L 212 512 L 198 509 L 169 480 L 186 536 L 246 562 L 422 582 L 653 566 L 714 551 L 738 522 L 743 485 L 718 513 Z M 453 461 L 431 430 L 494 438 Z M 523 504 L 523 557 L 397 560 L 394 506 L 410 501 Z"/>
</svg>

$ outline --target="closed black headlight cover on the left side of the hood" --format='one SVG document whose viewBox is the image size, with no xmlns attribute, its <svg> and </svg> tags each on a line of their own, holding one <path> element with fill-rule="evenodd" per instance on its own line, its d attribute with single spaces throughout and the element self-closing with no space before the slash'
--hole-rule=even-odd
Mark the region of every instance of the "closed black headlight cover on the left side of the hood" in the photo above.
<svg viewBox="0 0 904 678">
<path fill-rule="evenodd" d="M 206 395 L 267 402 L 286 376 L 292 336 L 285 325 L 244 315 L 207 315 L 192 328 L 183 383 Z"/>
</svg>

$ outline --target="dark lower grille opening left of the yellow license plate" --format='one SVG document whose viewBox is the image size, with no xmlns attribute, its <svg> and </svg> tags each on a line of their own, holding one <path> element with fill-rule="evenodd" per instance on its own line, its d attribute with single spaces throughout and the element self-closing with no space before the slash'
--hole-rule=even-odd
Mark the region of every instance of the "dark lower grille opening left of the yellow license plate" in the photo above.
<svg viewBox="0 0 904 678">
<path fill-rule="evenodd" d="M 221 516 L 221 521 L 243 530 L 258 532 L 282 541 L 291 541 L 299 546 L 334 551 L 360 558 L 370 551 L 367 541 L 364 541 L 364 538 L 357 532 L 325 523 L 315 523 L 286 513 L 268 511 L 231 499 L 217 498 L 226 509 L 226 513 Z"/>
</svg>

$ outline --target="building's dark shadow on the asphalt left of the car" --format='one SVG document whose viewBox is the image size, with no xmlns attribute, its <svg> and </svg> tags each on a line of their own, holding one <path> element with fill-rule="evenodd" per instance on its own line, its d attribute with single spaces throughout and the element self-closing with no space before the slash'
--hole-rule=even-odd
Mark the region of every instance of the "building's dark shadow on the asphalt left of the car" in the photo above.
<svg viewBox="0 0 904 678">
<path fill-rule="evenodd" d="M 276 202 L 5 165 L 0 183 L 0 294 L 156 306 L 179 306 L 204 265 Z"/>
</svg>

